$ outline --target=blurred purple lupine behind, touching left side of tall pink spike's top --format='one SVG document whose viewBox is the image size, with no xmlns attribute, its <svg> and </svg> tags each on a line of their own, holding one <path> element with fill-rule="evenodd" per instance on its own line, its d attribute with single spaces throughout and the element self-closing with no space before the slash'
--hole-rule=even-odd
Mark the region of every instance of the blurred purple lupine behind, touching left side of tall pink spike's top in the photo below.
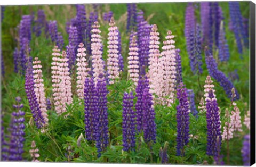
<svg viewBox="0 0 256 167">
<path fill-rule="evenodd" d="M 91 31 L 93 29 L 92 25 L 97 20 L 98 20 L 98 13 L 91 12 L 88 23 L 87 23 L 87 27 L 86 27 L 86 46 L 87 46 L 86 50 L 89 55 L 92 54 L 92 51 L 91 51 L 91 37 L 92 37 Z"/>
</svg>

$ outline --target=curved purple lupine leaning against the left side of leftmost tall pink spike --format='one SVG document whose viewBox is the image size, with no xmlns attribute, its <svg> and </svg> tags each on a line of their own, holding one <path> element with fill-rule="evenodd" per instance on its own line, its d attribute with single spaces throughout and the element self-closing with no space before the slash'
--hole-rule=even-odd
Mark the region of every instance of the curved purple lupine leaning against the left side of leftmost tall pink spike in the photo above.
<svg viewBox="0 0 256 167">
<path fill-rule="evenodd" d="M 26 78 L 25 78 L 25 89 L 26 94 L 30 106 L 31 113 L 33 114 L 34 121 L 36 122 L 37 128 L 41 128 L 45 123 L 44 117 L 42 116 L 42 112 L 40 110 L 37 97 L 35 94 L 34 87 L 34 78 L 33 78 L 33 68 L 31 61 L 28 62 L 28 68 L 26 70 Z"/>
</svg>

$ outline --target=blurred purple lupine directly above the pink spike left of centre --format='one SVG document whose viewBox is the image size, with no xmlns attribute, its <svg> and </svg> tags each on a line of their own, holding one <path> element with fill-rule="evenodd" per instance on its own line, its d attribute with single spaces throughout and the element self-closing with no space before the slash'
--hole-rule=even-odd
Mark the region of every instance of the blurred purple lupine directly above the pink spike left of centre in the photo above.
<svg viewBox="0 0 256 167">
<path fill-rule="evenodd" d="M 84 43 L 86 30 L 86 11 L 82 4 L 76 5 L 76 27 L 78 32 L 78 43 Z"/>
</svg>

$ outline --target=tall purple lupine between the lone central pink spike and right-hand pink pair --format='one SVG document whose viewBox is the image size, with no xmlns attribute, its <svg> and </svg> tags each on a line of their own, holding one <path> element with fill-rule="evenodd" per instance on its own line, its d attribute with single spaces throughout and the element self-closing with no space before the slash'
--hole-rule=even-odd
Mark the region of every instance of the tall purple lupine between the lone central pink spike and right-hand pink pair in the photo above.
<svg viewBox="0 0 256 167">
<path fill-rule="evenodd" d="M 146 66 L 148 65 L 148 55 L 149 55 L 149 42 L 150 42 L 150 32 L 152 26 L 148 24 L 147 21 L 143 19 L 143 12 L 137 13 L 137 25 L 138 25 L 138 48 L 139 48 L 139 64 L 140 64 L 140 74 L 146 74 Z"/>
</svg>

